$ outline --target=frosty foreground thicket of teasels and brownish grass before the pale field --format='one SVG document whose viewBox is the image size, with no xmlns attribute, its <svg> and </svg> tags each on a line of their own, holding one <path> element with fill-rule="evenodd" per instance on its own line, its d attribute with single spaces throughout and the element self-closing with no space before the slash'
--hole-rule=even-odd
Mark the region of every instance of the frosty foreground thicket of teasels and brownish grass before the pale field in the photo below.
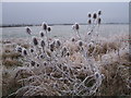
<svg viewBox="0 0 131 98">
<path fill-rule="evenodd" d="M 3 94 L 8 96 L 116 96 L 131 95 L 130 53 L 127 35 L 108 39 L 98 35 L 100 14 L 88 14 L 85 38 L 81 26 L 72 27 L 76 36 L 50 38 L 50 26 L 41 25 L 39 37 L 29 35 L 27 47 L 16 45 L 23 66 L 3 70 Z M 4 84 L 4 83 L 3 83 Z M 5 93 L 8 88 L 13 88 Z"/>
</svg>

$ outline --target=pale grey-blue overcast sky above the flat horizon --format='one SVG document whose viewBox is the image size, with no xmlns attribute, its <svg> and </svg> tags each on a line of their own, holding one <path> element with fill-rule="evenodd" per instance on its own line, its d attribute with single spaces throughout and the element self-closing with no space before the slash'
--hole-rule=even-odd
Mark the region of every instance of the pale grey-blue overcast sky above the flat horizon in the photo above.
<svg viewBox="0 0 131 98">
<path fill-rule="evenodd" d="M 3 24 L 39 24 L 43 22 L 86 23 L 87 13 L 103 11 L 104 23 L 128 23 L 128 2 L 3 2 Z"/>
</svg>

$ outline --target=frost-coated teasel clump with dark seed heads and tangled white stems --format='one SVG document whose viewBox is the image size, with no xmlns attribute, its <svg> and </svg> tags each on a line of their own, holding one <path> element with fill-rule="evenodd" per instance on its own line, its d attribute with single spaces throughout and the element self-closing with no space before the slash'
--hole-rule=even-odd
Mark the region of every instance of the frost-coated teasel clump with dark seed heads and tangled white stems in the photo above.
<svg viewBox="0 0 131 98">
<path fill-rule="evenodd" d="M 94 26 L 94 20 L 96 22 L 96 19 L 98 19 L 99 15 L 100 13 L 97 16 L 95 16 L 94 14 L 88 15 L 88 19 L 91 20 L 91 22 L 88 22 L 91 29 L 88 30 L 92 32 L 92 26 Z M 33 85 L 35 89 L 37 89 L 37 87 L 44 88 L 45 85 L 50 88 L 53 86 L 55 90 L 60 93 L 59 95 L 68 94 L 79 96 L 95 94 L 98 87 L 102 85 L 103 75 L 98 70 L 98 65 L 96 65 L 94 58 L 92 56 L 87 56 L 87 45 L 90 44 L 90 41 L 86 42 L 81 38 L 81 35 L 79 33 L 80 25 L 78 23 L 73 25 L 76 37 L 72 37 L 69 40 L 69 42 L 79 47 L 76 51 L 73 51 L 73 53 L 76 53 L 76 56 L 74 57 L 73 53 L 71 54 L 70 46 L 66 44 L 67 40 L 52 38 L 52 40 L 49 41 L 49 32 L 51 32 L 51 27 L 48 26 L 46 23 L 43 23 L 41 27 L 43 30 L 39 33 L 39 37 L 32 38 L 32 46 L 28 49 L 22 47 L 20 48 L 20 46 L 17 46 L 16 48 L 17 52 L 22 53 L 25 60 L 27 60 L 26 62 L 28 62 L 31 65 L 29 69 L 31 71 L 33 71 L 33 75 L 31 77 L 39 78 L 36 81 L 36 83 L 38 82 L 40 85 L 37 84 L 36 86 L 33 85 L 33 83 L 28 85 Z M 29 30 L 26 33 L 31 35 Z M 78 53 L 80 54 L 80 58 L 81 56 L 82 59 L 84 58 L 80 63 L 80 65 L 82 66 L 75 66 L 75 60 L 78 60 L 75 58 L 79 57 Z M 85 72 L 85 76 L 79 77 L 81 76 L 80 73 L 83 72 Z M 55 76 L 56 74 L 58 74 L 58 76 Z M 28 78 L 29 77 L 24 79 Z M 91 83 L 93 85 L 88 87 Z M 41 86 L 41 84 L 44 86 Z M 60 87 L 61 84 L 62 87 Z M 46 87 L 44 88 L 44 90 L 47 89 L 48 88 Z M 31 91 L 31 89 L 27 91 Z"/>
</svg>

